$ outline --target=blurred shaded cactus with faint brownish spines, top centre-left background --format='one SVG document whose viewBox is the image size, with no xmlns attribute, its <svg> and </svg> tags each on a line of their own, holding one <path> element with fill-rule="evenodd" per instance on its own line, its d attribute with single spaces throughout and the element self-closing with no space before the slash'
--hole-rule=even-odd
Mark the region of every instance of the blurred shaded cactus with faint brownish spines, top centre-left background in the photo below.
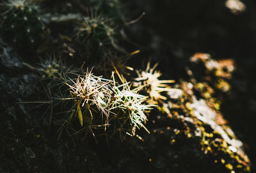
<svg viewBox="0 0 256 173">
<path fill-rule="evenodd" d="M 101 15 L 84 17 L 76 30 L 78 40 L 90 43 L 92 50 L 100 51 L 106 50 L 107 47 L 116 47 L 115 28 L 112 27 L 112 21 Z"/>
</svg>

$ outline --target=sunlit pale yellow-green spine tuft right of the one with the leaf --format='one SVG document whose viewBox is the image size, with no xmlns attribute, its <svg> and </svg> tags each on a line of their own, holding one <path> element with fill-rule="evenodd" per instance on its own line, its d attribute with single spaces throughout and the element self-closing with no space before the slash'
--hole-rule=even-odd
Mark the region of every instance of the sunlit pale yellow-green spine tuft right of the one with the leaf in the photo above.
<svg viewBox="0 0 256 173">
<path fill-rule="evenodd" d="M 152 107 L 154 107 L 155 105 L 145 104 L 147 96 L 139 94 L 139 91 L 144 86 L 138 86 L 131 89 L 131 84 L 126 81 L 124 76 L 120 75 L 118 71 L 116 71 L 116 73 L 118 74 L 122 85 L 116 86 L 113 73 L 113 91 L 115 100 L 112 103 L 111 110 L 118 109 L 118 113 L 116 114 L 117 116 L 113 116 L 113 120 L 117 121 L 114 123 L 119 124 L 118 129 L 120 129 L 120 127 L 125 128 L 127 130 L 127 133 L 131 134 L 132 136 L 136 135 L 137 128 L 144 128 L 149 133 L 147 128 L 144 126 L 144 123 L 147 121 L 147 116 L 145 112 L 152 109 Z M 120 112 L 120 110 L 122 110 L 122 113 Z M 118 117 L 120 115 L 122 118 Z"/>
</svg>

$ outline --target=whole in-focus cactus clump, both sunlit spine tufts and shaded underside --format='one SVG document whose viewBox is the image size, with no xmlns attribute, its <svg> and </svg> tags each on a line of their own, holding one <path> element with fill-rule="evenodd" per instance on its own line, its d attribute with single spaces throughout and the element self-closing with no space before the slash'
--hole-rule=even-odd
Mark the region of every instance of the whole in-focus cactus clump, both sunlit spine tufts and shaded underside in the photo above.
<svg viewBox="0 0 256 173">
<path fill-rule="evenodd" d="M 118 75 L 120 76 L 119 73 Z M 65 86 L 66 93 L 61 92 L 61 96 L 57 93 L 52 98 L 54 107 L 61 105 L 65 114 L 60 117 L 63 122 L 61 126 L 68 129 L 65 124 L 70 126 L 71 122 L 79 122 L 80 128 L 76 126 L 74 134 L 91 132 L 94 137 L 93 131 L 102 128 L 114 133 L 117 129 L 124 129 L 125 133 L 132 136 L 136 136 L 136 129 L 144 128 L 148 132 L 144 126 L 147 121 L 145 112 L 154 105 L 148 105 L 145 102 L 147 96 L 138 93 L 143 86 L 131 89 L 124 77 L 120 85 L 117 84 L 114 73 L 112 77 L 111 80 L 103 79 L 88 70 L 84 75 L 61 77 L 63 82 L 60 87 Z"/>
</svg>

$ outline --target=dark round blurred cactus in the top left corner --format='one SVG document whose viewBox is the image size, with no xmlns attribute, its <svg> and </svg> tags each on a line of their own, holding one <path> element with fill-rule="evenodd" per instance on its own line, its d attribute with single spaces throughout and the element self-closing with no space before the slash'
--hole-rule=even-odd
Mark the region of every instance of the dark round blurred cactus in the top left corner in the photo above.
<svg viewBox="0 0 256 173">
<path fill-rule="evenodd" d="M 17 49 L 35 49 L 42 40 L 44 24 L 36 6 L 26 0 L 9 0 L 5 4 L 2 34 Z"/>
</svg>

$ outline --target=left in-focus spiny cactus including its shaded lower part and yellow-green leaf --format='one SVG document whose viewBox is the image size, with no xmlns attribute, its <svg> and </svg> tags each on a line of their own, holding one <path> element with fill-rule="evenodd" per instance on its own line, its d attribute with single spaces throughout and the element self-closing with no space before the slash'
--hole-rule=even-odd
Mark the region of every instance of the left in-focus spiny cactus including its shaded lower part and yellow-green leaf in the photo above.
<svg viewBox="0 0 256 173">
<path fill-rule="evenodd" d="M 81 129 L 78 132 L 91 132 L 93 128 L 108 126 L 108 105 L 111 99 L 109 80 L 96 77 L 92 71 L 86 71 L 85 75 L 78 75 L 75 79 L 64 79 L 69 95 L 61 98 L 64 102 L 72 102 L 65 121 L 72 121 L 72 117 L 78 117 Z M 74 112 L 74 110 L 76 110 Z M 97 114 L 97 116 L 95 116 Z"/>
</svg>

